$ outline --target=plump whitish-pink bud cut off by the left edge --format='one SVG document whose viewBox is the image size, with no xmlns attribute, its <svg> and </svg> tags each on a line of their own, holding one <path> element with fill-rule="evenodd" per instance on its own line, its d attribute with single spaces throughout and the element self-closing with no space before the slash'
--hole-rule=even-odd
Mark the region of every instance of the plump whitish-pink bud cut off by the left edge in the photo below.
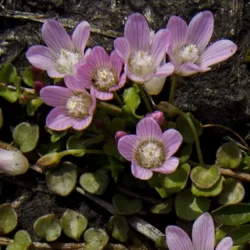
<svg viewBox="0 0 250 250">
<path fill-rule="evenodd" d="M 0 148 L 0 173 L 20 175 L 27 172 L 28 168 L 29 162 L 20 151 Z"/>
</svg>

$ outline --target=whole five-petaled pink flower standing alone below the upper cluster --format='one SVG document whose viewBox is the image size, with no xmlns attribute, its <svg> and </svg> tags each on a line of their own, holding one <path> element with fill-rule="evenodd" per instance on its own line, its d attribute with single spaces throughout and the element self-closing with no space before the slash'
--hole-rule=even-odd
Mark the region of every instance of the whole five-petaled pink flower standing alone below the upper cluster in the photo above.
<svg viewBox="0 0 250 250">
<path fill-rule="evenodd" d="M 132 174 L 142 180 L 152 177 L 153 171 L 169 174 L 176 170 L 179 159 L 172 157 L 182 143 L 175 129 L 162 133 L 152 118 L 143 118 L 136 126 L 136 135 L 125 135 L 118 141 L 120 154 L 132 162 Z"/>
</svg>

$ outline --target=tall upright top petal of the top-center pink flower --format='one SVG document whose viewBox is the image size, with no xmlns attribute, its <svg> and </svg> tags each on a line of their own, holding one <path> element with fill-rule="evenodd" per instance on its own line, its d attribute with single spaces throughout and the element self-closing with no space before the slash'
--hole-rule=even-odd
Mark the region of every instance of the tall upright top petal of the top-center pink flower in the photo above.
<svg viewBox="0 0 250 250">
<path fill-rule="evenodd" d="M 150 28 L 146 18 L 139 13 L 130 15 L 125 24 L 124 37 L 128 39 L 132 50 L 148 51 L 150 48 Z"/>
</svg>

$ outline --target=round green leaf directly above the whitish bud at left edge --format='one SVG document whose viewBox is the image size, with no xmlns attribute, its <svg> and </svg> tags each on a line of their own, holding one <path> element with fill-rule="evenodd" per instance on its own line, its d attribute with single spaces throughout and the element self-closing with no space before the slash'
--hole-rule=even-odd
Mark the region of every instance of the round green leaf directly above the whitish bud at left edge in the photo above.
<svg viewBox="0 0 250 250">
<path fill-rule="evenodd" d="M 39 127 L 27 122 L 20 123 L 15 127 L 12 137 L 20 150 L 28 153 L 34 150 L 38 143 Z"/>
</svg>

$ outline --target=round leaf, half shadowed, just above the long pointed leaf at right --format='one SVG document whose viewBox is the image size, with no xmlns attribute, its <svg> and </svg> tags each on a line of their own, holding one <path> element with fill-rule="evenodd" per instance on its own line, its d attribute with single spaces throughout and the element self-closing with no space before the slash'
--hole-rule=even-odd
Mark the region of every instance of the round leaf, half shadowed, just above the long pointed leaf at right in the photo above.
<svg viewBox="0 0 250 250">
<path fill-rule="evenodd" d="M 228 178 L 223 184 L 223 190 L 218 196 L 218 201 L 221 205 L 239 203 L 244 199 L 245 189 L 243 185 L 233 179 Z"/>
</svg>

